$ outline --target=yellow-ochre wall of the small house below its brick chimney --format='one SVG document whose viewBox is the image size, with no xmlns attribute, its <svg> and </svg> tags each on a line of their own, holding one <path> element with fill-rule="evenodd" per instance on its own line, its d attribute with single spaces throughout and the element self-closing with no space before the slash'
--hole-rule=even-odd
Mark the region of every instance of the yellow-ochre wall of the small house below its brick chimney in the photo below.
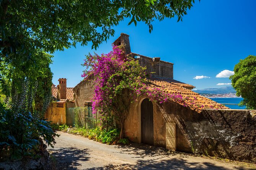
<svg viewBox="0 0 256 170">
<path fill-rule="evenodd" d="M 52 123 L 67 124 L 65 105 L 64 103 L 64 107 L 57 107 L 56 103 L 52 103 L 46 110 L 44 117 Z"/>
</svg>

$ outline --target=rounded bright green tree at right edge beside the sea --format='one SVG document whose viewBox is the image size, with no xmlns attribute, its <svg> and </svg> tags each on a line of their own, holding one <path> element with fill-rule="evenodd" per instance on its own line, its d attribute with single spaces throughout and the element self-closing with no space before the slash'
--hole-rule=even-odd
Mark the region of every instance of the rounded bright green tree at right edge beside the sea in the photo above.
<svg viewBox="0 0 256 170">
<path fill-rule="evenodd" d="M 256 56 L 249 55 L 235 65 L 235 74 L 230 76 L 237 96 L 242 96 L 240 105 L 256 109 Z"/>
</svg>

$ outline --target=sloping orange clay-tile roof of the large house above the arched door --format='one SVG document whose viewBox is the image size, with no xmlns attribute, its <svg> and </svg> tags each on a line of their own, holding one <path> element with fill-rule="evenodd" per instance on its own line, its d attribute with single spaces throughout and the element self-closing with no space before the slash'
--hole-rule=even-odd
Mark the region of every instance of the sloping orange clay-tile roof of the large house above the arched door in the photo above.
<svg viewBox="0 0 256 170">
<path fill-rule="evenodd" d="M 199 95 L 198 93 L 191 91 L 185 87 L 181 83 L 172 83 L 172 82 L 166 82 L 163 80 L 150 80 L 152 83 L 150 86 L 152 88 L 163 88 L 166 93 L 176 93 L 181 94 L 182 98 L 188 97 L 189 99 L 194 99 L 194 104 L 188 104 L 191 109 L 196 110 L 197 112 L 201 112 L 202 109 L 210 109 L 210 108 L 221 108 L 221 109 L 229 109 L 228 107 L 221 106 L 219 103 L 205 98 L 204 96 Z M 175 101 L 181 105 L 183 103 L 179 101 Z M 197 107 L 197 106 L 204 106 L 204 107 Z"/>
</svg>

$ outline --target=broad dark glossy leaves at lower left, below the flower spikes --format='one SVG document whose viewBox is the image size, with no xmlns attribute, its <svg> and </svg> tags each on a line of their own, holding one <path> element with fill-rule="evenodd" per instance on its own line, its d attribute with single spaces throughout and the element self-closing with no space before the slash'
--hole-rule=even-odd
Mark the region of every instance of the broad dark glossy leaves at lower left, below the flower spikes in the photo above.
<svg viewBox="0 0 256 170">
<path fill-rule="evenodd" d="M 49 122 L 39 120 L 28 111 L 13 112 L 0 103 L 0 152 L 11 159 L 38 154 L 42 140 L 53 147 L 58 136 Z"/>
</svg>

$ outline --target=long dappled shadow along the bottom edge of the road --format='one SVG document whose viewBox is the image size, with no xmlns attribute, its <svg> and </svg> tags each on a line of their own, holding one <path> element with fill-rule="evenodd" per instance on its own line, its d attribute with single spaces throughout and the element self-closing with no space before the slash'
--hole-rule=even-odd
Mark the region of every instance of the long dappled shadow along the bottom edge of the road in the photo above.
<svg viewBox="0 0 256 170">
<path fill-rule="evenodd" d="M 188 163 L 184 159 L 168 159 L 168 160 L 138 160 L 136 165 L 122 164 L 122 165 L 107 165 L 104 167 L 94 167 L 87 170 L 109 170 L 109 169 L 137 169 L 137 170 L 147 170 L 147 169 L 157 169 L 157 170 L 225 170 L 224 167 L 216 166 L 209 162 L 196 162 Z M 237 167 L 236 169 L 243 170 L 242 167 Z"/>
</svg>

